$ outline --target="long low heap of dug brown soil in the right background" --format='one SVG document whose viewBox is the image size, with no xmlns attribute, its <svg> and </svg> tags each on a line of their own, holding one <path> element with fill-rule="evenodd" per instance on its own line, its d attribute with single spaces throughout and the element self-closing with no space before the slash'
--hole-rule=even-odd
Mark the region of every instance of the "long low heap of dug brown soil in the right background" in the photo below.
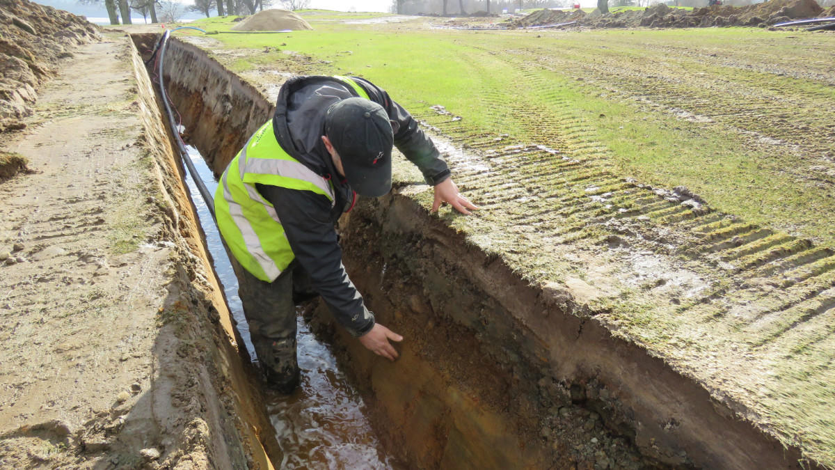
<svg viewBox="0 0 835 470">
<path fill-rule="evenodd" d="M 832 8 L 830 8 L 832 10 Z M 578 26 L 593 28 L 696 28 L 709 26 L 758 26 L 766 27 L 792 19 L 827 16 L 815 0 L 769 0 L 745 7 L 715 5 L 687 11 L 670 8 L 663 3 L 644 10 L 628 10 L 601 15 L 597 10 L 588 15 L 580 10 L 539 10 L 512 21 L 511 28 L 526 28 L 576 21 Z"/>
</svg>

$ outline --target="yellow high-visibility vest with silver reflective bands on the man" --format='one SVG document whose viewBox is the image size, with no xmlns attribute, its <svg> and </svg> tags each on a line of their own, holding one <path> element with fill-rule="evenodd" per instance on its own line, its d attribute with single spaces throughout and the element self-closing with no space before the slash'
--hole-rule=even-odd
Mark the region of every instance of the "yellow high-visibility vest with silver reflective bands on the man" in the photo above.
<svg viewBox="0 0 835 470">
<path fill-rule="evenodd" d="M 334 77 L 362 98 L 368 94 L 347 77 Z M 335 203 L 331 181 L 290 156 L 276 140 L 272 120 L 262 125 L 238 152 L 215 191 L 215 215 L 220 234 L 241 266 L 262 281 L 272 282 L 296 258 L 275 207 L 256 184 L 315 192 Z"/>
</svg>

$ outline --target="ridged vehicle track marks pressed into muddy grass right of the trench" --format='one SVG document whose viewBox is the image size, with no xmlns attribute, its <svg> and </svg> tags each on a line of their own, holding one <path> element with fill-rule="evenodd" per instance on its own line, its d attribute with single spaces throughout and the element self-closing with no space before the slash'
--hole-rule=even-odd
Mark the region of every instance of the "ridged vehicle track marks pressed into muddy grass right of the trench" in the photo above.
<svg viewBox="0 0 835 470">
<path fill-rule="evenodd" d="M 472 57 L 460 58 L 468 74 L 483 81 L 490 70 L 480 65 L 483 59 L 478 54 L 498 55 L 473 48 Z M 469 197 L 481 202 L 483 222 L 512 235 L 513 239 L 504 240 L 506 256 L 532 279 L 548 278 L 560 269 L 576 272 L 581 269 L 578 263 L 558 258 L 571 259 L 578 252 L 595 253 L 619 265 L 620 272 L 615 269 L 614 275 L 635 289 L 621 291 L 628 294 L 625 300 L 616 301 L 611 312 L 597 312 L 597 318 L 695 377 L 739 416 L 782 442 L 800 447 L 807 457 L 833 462 L 827 449 L 835 444 L 835 431 L 821 418 L 835 413 L 835 397 L 826 386 L 835 381 L 835 370 L 827 359 L 827 351 L 835 350 L 835 252 L 708 207 L 683 205 L 686 197 L 616 176 L 595 130 L 558 100 L 553 88 L 557 85 L 541 73 L 556 65 L 544 66 L 536 57 L 501 55 L 501 60 L 519 70 L 518 76 L 506 89 L 488 84 L 481 88 L 488 90 L 482 109 L 490 120 L 522 120 L 532 142 L 473 130 L 463 124 L 466 116 L 450 120 L 454 110 L 416 114 L 430 129 L 478 156 L 474 165 L 472 156 L 450 154 L 448 160 L 454 168 L 463 168 L 456 171 L 456 181 Z M 616 74 L 600 64 L 584 65 L 604 77 L 591 80 L 595 86 L 608 86 L 619 95 L 639 91 L 638 84 L 617 88 L 607 81 L 628 81 L 625 78 L 637 74 L 635 70 Z M 589 73 L 585 70 L 584 76 Z M 712 79 L 716 78 L 703 80 Z M 653 83 L 662 81 L 658 78 Z M 746 86 L 755 89 L 757 83 L 762 81 Z M 668 97 L 664 106 L 677 106 L 694 115 L 709 110 L 708 92 L 674 91 L 675 85 L 643 89 L 652 100 Z M 812 97 L 821 103 L 826 98 Z M 741 128 L 766 130 L 767 125 L 758 127 L 757 119 L 764 118 L 766 124 L 781 119 L 777 116 L 787 112 L 788 105 L 799 104 L 802 97 L 792 97 L 782 107 L 772 105 L 776 110 L 768 115 L 758 114 L 771 109 L 767 100 L 754 104 L 754 111 L 731 109 L 710 117 Z M 549 105 L 542 105 L 544 101 Z M 731 101 L 719 107 L 728 109 Z M 499 108 L 498 103 L 510 103 L 510 108 Z M 801 119 L 811 123 L 804 135 L 825 132 L 827 120 L 835 121 L 832 117 L 829 110 L 815 116 L 809 110 Z M 772 135 L 791 138 L 786 132 Z M 815 140 L 802 152 L 823 148 L 822 140 Z M 532 261 L 525 253 L 549 255 Z M 664 261 L 655 268 L 662 273 L 639 268 L 647 260 L 660 258 Z M 639 278 L 629 279 L 635 269 Z M 676 275 L 682 272 L 695 273 L 703 289 L 676 289 L 681 282 Z M 630 318 L 634 310 L 630 304 L 643 304 L 647 311 L 641 316 L 657 324 Z M 619 307 L 626 313 L 619 314 Z M 801 430 L 802 438 L 798 437 Z"/>
</svg>

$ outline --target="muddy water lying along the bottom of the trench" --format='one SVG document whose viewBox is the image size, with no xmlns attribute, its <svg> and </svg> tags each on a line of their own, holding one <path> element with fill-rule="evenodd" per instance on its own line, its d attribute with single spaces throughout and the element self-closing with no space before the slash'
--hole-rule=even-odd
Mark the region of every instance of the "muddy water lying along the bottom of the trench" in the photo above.
<svg viewBox="0 0 835 470">
<path fill-rule="evenodd" d="M 217 182 L 200 153 L 189 147 L 198 176 L 214 194 Z M 232 316 L 250 356 L 255 359 L 249 329 L 238 298 L 238 281 L 227 258 L 220 233 L 197 186 L 187 179 L 191 198 L 197 207 L 215 272 L 226 294 Z M 267 410 L 284 451 L 279 468 L 397 468 L 382 450 L 364 414 L 365 405 L 346 376 L 337 369 L 329 347 L 317 340 L 301 315 L 298 322 L 298 358 L 301 386 L 292 396 L 268 394 Z"/>
</svg>

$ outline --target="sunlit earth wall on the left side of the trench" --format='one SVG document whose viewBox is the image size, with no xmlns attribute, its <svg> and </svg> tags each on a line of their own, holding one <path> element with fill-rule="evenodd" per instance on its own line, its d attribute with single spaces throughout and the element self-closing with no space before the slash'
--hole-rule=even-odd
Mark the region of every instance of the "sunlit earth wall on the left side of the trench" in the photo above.
<svg viewBox="0 0 835 470">
<path fill-rule="evenodd" d="M 134 43 L 130 43 L 127 59 L 133 66 L 140 97 L 145 145 L 154 156 L 152 171 L 159 181 L 159 197 L 149 198 L 157 199 L 154 202 L 165 218 L 160 237 L 177 248 L 174 280 L 166 286 L 170 295 L 160 313 L 167 319 L 163 328 L 174 338 L 162 341 L 155 354 L 161 357 L 165 373 L 178 378 L 179 386 L 200 391 L 202 401 L 188 404 L 185 412 L 205 422 L 206 428 L 200 432 L 209 439 L 205 451 L 210 456 L 210 462 L 206 462 L 210 467 L 273 468 L 271 462 L 281 462 L 281 449 L 266 417 L 249 355 L 237 338 L 223 289 L 215 277 L 205 235 L 185 186 L 180 156 Z M 169 392 L 174 396 L 178 393 Z M 174 439 L 195 439 L 190 437 L 193 432 L 175 431 L 185 424 L 166 426 Z"/>
</svg>

